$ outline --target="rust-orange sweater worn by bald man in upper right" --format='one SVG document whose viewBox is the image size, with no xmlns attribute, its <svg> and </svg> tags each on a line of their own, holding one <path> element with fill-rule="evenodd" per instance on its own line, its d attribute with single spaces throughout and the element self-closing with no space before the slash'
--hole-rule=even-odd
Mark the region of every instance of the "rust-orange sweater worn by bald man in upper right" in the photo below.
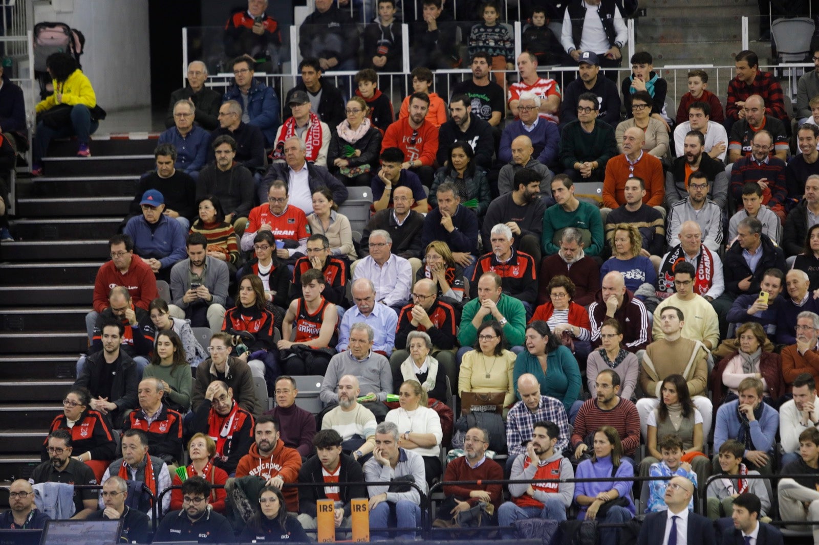
<svg viewBox="0 0 819 545">
<path fill-rule="evenodd" d="M 663 163 L 654 155 L 649 155 L 644 151 L 642 157 L 634 165 L 633 174 L 629 169 L 626 154 L 621 153 L 606 163 L 606 178 L 603 180 L 603 205 L 605 207 L 618 208 L 626 204 L 623 191 L 626 189 L 626 180 L 631 176 L 639 176 L 645 180 L 644 205 L 663 205 L 665 199 Z"/>
</svg>

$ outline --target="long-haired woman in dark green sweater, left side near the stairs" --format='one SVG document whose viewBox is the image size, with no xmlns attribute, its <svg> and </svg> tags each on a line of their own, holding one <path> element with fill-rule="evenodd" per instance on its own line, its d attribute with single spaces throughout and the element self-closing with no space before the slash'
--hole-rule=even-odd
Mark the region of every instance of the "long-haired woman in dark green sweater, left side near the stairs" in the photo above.
<svg viewBox="0 0 819 545">
<path fill-rule="evenodd" d="M 185 414 L 191 408 L 191 367 L 185 361 L 182 340 L 174 331 L 160 331 L 156 336 L 151 363 L 143 370 L 143 379 L 152 376 L 165 387 L 162 403 Z"/>
</svg>

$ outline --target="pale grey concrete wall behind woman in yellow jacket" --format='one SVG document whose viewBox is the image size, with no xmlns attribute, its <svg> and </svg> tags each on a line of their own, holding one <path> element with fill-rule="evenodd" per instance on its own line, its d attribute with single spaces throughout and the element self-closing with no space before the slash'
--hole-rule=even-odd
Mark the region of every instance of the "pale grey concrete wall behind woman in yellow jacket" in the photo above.
<svg viewBox="0 0 819 545">
<path fill-rule="evenodd" d="M 147 0 L 35 2 L 34 23 L 43 20 L 66 23 L 85 35 L 80 62 L 100 106 L 108 111 L 151 106 Z"/>
</svg>

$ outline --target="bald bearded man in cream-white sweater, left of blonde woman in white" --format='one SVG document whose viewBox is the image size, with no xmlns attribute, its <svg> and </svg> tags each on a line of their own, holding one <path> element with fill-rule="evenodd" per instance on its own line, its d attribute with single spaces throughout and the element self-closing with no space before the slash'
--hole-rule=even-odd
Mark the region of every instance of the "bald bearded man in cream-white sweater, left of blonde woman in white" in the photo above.
<svg viewBox="0 0 819 545">
<path fill-rule="evenodd" d="M 336 430 L 342 436 L 342 450 L 360 460 L 375 448 L 375 415 L 358 402 L 361 389 L 355 376 L 342 376 L 337 392 L 338 406 L 324 415 L 321 429 Z"/>
</svg>

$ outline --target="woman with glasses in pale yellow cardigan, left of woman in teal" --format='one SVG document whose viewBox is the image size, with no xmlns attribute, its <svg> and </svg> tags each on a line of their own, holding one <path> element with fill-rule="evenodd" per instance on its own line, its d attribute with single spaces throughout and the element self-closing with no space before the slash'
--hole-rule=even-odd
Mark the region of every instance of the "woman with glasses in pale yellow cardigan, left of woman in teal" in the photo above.
<svg viewBox="0 0 819 545">
<path fill-rule="evenodd" d="M 514 403 L 513 371 L 515 355 L 504 346 L 503 328 L 498 322 L 483 322 L 477 328 L 475 348 L 464 354 L 458 373 L 458 395 L 504 392 L 504 407 Z"/>
</svg>

